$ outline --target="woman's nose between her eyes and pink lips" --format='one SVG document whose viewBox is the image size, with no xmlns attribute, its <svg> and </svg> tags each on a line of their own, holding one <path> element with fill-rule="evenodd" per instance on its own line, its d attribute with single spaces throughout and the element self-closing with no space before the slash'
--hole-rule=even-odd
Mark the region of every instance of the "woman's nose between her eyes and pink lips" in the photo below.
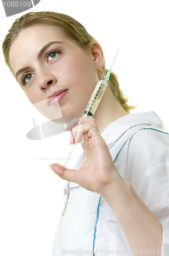
<svg viewBox="0 0 169 256">
<path fill-rule="evenodd" d="M 39 84 L 39 89 L 41 91 L 46 91 L 49 87 L 53 86 L 54 84 L 57 83 L 56 77 L 51 74 L 49 70 L 41 72 L 38 77 L 38 84 Z"/>
</svg>

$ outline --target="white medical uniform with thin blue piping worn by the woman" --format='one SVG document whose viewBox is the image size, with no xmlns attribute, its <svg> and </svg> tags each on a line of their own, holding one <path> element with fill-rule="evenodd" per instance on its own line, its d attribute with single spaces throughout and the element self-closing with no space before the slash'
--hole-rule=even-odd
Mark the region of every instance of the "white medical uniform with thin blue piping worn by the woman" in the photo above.
<svg viewBox="0 0 169 256">
<path fill-rule="evenodd" d="M 153 125 L 153 126 L 152 126 Z M 78 184 L 66 182 L 69 191 L 61 215 L 52 256 L 61 255 L 169 255 L 169 135 L 154 112 L 130 114 L 109 124 L 105 139 L 119 174 L 163 226 L 162 251 L 131 251 L 116 216 L 103 197 Z M 78 168 L 84 155 L 77 161 Z M 146 250 L 146 251 L 145 251 Z"/>
</svg>

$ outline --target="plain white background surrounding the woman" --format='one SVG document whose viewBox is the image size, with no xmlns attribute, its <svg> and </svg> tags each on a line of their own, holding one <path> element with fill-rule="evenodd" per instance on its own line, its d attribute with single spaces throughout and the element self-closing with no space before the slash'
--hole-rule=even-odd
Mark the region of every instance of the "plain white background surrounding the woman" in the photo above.
<svg viewBox="0 0 169 256">
<path fill-rule="evenodd" d="M 134 112 L 154 110 L 169 131 L 168 7 L 164 0 L 41 0 L 28 11 L 53 10 L 79 20 L 101 43 L 108 69 L 119 48 L 113 72 L 130 104 L 139 105 Z M 6 17 L 0 2 L 1 45 L 15 18 L 22 14 Z M 65 181 L 53 173 L 49 163 L 62 162 L 68 136 L 27 139 L 27 132 L 34 127 L 32 118 L 38 123 L 42 117 L 10 74 L 2 51 L 0 54 L 0 255 L 51 255 L 65 202 Z"/>
</svg>

